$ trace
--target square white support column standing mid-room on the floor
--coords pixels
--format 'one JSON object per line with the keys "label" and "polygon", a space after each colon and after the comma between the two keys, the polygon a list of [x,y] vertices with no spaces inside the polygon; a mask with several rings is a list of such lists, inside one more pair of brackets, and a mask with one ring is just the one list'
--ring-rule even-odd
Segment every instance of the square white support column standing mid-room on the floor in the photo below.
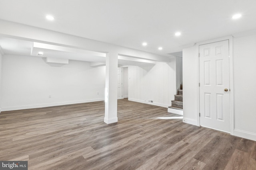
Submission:
{"label": "square white support column standing mid-room on the floor", "polygon": [[106,54],[105,117],[107,124],[117,122],[118,53]]}

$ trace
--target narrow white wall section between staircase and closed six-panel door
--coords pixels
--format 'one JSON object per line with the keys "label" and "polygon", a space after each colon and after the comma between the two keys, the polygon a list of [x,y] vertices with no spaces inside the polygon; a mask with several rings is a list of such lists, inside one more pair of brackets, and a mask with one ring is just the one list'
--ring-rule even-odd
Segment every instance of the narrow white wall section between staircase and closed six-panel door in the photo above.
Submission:
{"label": "narrow white wall section between staircase and closed six-panel door", "polygon": [[183,122],[197,125],[197,60],[196,45],[182,51],[183,66]]}

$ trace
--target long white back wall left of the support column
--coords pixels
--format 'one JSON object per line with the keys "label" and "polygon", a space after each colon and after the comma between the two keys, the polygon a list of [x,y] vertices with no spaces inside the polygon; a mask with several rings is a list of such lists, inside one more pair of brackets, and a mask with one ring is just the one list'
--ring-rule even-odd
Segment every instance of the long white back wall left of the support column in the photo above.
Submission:
{"label": "long white back wall left of the support column", "polygon": [[2,111],[104,100],[105,76],[105,66],[88,62],[53,66],[39,57],[4,55]]}

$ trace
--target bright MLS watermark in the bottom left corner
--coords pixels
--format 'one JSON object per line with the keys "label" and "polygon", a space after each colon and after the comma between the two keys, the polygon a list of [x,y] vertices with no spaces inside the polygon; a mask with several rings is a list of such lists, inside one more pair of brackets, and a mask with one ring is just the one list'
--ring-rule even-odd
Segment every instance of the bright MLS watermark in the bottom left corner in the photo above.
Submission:
{"label": "bright MLS watermark in the bottom left corner", "polygon": [[0,170],[28,170],[28,161],[0,161]]}

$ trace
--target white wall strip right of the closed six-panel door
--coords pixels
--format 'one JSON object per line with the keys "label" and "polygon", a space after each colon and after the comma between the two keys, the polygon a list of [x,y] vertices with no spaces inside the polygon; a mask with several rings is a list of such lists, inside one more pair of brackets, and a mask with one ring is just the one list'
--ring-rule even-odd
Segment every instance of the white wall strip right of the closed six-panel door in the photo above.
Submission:
{"label": "white wall strip right of the closed six-panel door", "polygon": [[234,38],[233,42],[234,133],[256,135],[256,35]]}

